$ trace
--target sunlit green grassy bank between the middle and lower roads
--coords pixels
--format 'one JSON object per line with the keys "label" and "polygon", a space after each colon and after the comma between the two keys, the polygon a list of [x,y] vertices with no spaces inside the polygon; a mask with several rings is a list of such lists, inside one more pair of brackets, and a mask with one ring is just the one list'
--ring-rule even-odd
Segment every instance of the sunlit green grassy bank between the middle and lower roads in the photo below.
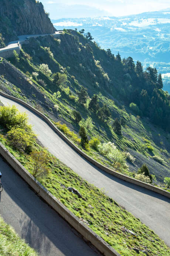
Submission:
{"label": "sunlit green grassy bank between the middle and lower roads", "polygon": [[[11,148],[4,134],[5,131],[1,130],[0,141],[31,173],[33,166],[29,155]],[[35,144],[35,148],[41,150],[38,144]],[[137,255],[133,248],[140,250],[139,255],[145,255],[142,250],[149,256],[169,255],[166,244],[139,219],[106,196],[105,191],[83,180],[55,157],[52,157],[50,168],[51,174],[41,179],[41,184],[121,255]],[[68,187],[76,188],[82,198],[69,192]],[[135,234],[125,232],[123,227]]]}

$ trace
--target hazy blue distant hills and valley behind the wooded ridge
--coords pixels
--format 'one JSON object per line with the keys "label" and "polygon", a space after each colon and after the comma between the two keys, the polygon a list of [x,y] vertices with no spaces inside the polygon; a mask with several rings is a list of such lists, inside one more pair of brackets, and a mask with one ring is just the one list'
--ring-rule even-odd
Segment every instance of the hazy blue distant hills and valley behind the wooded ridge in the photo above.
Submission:
{"label": "hazy blue distant hills and valley behind the wooded ridge", "polygon": [[162,73],[164,89],[170,92],[170,8],[122,17],[69,18],[52,20],[57,29],[84,28],[112,53],[131,56]]}

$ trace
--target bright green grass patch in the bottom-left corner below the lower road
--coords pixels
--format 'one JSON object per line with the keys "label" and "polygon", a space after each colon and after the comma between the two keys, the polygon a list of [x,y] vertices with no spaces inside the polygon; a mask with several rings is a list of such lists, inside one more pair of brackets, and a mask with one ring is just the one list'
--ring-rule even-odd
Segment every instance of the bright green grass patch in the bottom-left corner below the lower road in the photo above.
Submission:
{"label": "bright green grass patch in the bottom-left corner below the lower road", "polygon": [[38,256],[14,229],[0,217],[0,255],[1,256]]}

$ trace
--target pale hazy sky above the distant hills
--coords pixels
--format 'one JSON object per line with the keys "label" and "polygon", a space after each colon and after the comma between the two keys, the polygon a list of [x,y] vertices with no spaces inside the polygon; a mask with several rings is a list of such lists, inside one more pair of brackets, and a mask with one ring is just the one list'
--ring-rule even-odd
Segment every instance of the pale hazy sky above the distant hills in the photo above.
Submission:
{"label": "pale hazy sky above the distant hills", "polygon": [[40,0],[51,19],[126,16],[170,8],[170,0]]}

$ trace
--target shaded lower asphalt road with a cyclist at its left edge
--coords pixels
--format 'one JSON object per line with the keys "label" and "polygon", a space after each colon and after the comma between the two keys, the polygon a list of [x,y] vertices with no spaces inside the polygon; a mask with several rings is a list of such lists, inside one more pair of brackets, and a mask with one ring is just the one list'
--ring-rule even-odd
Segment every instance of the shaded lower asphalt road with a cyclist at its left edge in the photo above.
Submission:
{"label": "shaded lower asphalt road with a cyclist at its left edge", "polygon": [[97,256],[0,157],[0,215],[41,256]]}

